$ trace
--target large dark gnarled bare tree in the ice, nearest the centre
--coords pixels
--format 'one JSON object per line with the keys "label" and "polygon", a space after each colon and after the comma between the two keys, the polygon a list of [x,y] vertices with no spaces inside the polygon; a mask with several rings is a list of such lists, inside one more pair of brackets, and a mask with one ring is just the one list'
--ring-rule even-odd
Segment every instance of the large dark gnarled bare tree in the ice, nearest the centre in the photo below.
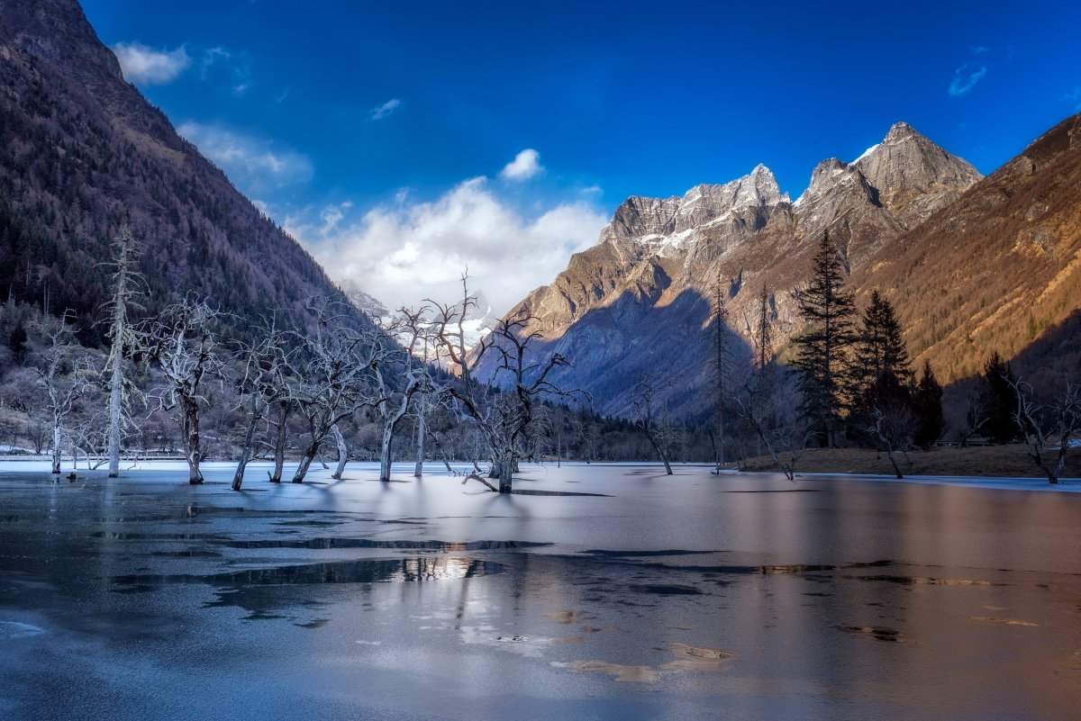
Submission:
{"label": "large dark gnarled bare tree in the ice, nearest the centre", "polygon": [[[476,307],[477,298],[469,294],[468,276],[462,276],[462,302],[436,309],[436,329],[440,352],[454,364],[458,382],[448,392],[480,432],[492,458],[493,477],[499,479],[499,492],[512,490],[515,466],[520,457],[522,435],[534,417],[534,409],[542,398],[587,396],[583,391],[564,391],[549,380],[551,372],[570,362],[558,353],[543,360],[534,360],[532,349],[540,334],[528,332],[534,319],[518,316],[503,319],[495,329],[469,351],[465,344],[465,319]],[[496,357],[493,385],[476,377],[479,364],[485,356]],[[503,389],[503,391],[499,390]],[[486,485],[486,484],[485,484]]]}

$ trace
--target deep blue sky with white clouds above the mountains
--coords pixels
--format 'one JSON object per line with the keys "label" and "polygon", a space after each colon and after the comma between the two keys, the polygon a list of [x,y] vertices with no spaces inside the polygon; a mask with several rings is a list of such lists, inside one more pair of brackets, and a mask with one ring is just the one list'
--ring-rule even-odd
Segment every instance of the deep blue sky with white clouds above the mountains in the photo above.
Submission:
{"label": "deep blue sky with white clouds above the mountains", "polygon": [[796,198],[898,120],[990,173],[1081,111],[1073,3],[825,4],[83,1],[332,276],[399,304],[468,264],[497,311],[627,195],[761,162]]}

